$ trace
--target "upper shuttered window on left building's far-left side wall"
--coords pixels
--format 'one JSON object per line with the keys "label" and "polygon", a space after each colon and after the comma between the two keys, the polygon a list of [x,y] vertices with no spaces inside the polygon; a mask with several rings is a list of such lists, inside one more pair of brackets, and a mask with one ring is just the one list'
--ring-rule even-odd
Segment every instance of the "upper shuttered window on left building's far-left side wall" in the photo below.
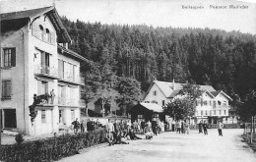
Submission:
{"label": "upper shuttered window on left building's far-left side wall", "polygon": [[3,55],[4,67],[15,67],[16,66],[16,49],[15,48],[4,48]]}

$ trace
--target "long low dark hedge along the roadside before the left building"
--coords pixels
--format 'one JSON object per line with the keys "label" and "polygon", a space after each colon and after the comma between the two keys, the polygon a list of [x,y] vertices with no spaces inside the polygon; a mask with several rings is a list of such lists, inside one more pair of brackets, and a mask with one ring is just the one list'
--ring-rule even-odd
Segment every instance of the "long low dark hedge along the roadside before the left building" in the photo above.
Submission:
{"label": "long low dark hedge along the roadside before the left building", "polygon": [[82,148],[104,142],[104,129],[78,134],[60,135],[45,139],[13,144],[2,148],[2,161],[52,161],[77,154]]}

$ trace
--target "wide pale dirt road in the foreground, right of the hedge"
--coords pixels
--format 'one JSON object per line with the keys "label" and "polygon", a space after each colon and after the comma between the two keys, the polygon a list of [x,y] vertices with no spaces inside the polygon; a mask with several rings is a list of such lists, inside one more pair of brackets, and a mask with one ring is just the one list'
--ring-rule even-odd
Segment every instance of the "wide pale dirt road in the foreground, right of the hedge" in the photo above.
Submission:
{"label": "wide pale dirt road in the foreground, right of the hedge", "polygon": [[209,130],[209,135],[163,133],[152,140],[89,149],[61,162],[255,162],[256,153],[241,142],[242,132],[224,130],[224,136],[217,130]]}

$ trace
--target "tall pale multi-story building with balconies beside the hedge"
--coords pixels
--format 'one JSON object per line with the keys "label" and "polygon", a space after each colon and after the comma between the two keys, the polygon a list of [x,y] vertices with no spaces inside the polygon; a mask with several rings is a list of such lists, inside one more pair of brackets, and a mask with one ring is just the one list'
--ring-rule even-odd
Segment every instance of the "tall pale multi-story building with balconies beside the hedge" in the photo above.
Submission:
{"label": "tall pale multi-story building with balconies beside the hedge", "polygon": [[[80,63],[54,7],[1,14],[1,119],[4,129],[27,135],[58,133],[80,119]],[[33,95],[46,94],[36,105]],[[51,97],[49,97],[51,95]],[[48,99],[48,100],[47,100]]]}

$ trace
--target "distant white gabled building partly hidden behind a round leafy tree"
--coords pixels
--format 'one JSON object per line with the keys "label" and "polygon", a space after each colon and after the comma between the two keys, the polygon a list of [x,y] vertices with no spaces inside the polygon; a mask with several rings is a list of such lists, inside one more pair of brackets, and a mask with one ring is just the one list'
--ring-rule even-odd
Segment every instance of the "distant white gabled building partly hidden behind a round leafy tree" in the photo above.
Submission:
{"label": "distant white gabled building partly hidden behind a round leafy tree", "polygon": [[[164,106],[175,97],[180,97],[179,91],[184,83],[153,81],[148,89],[143,102],[157,103]],[[195,122],[205,120],[209,123],[216,123],[218,119],[224,118],[227,121],[229,105],[232,99],[224,93],[217,91],[212,85],[199,85],[201,96],[197,99]]]}

